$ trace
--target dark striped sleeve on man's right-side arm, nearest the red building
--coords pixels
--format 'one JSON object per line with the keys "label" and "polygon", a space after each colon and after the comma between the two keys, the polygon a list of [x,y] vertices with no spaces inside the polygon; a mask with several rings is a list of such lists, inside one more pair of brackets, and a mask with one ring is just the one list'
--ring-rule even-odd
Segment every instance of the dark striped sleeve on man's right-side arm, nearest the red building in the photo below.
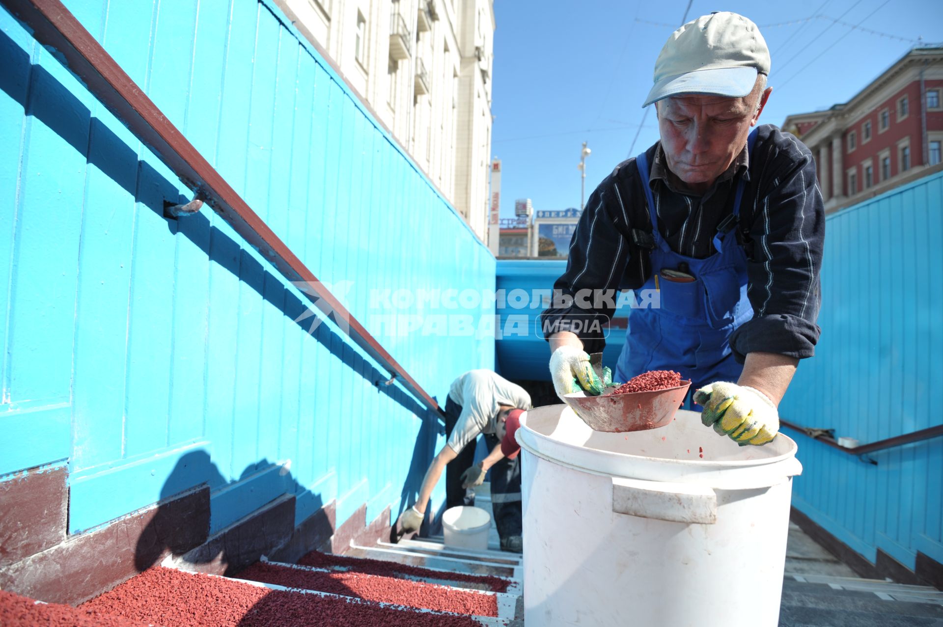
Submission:
{"label": "dark striped sleeve on man's right-side arm, nearest the red building", "polygon": [[730,339],[740,363],[748,353],[811,357],[819,341],[825,211],[811,152],[783,135],[779,148],[767,144],[779,154],[769,155],[772,167],[753,198],[747,264],[753,319]]}

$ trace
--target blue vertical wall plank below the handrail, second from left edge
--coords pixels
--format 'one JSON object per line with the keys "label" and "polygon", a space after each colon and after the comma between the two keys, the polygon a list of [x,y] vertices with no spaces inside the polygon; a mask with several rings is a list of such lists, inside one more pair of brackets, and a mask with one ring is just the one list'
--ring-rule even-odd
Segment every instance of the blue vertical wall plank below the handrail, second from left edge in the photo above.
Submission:
{"label": "blue vertical wall plank below the handrail, second from left edge", "polygon": [[14,403],[70,398],[91,123],[91,102],[70,93],[77,88],[73,76],[44,48],[37,53],[27,96],[30,117],[9,292],[8,402]]}

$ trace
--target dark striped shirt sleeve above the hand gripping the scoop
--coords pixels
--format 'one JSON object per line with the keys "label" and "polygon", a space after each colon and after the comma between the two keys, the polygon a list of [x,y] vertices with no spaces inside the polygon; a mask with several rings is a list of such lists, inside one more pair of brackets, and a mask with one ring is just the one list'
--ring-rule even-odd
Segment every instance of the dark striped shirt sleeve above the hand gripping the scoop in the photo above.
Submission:
{"label": "dark striped shirt sleeve above the hand gripping the scoop", "polygon": [[616,308],[629,258],[627,186],[608,176],[589,196],[570,243],[567,270],[554,282],[551,306],[539,316],[545,339],[571,331],[587,353],[605,346],[604,328]]}

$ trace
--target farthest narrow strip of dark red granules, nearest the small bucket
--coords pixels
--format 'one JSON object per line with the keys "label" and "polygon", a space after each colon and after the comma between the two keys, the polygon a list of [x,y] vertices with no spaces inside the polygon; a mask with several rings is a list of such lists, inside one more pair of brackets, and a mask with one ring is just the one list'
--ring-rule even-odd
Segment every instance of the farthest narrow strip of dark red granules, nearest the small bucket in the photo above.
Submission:
{"label": "farthest narrow strip of dark red granules, nearest the small bucket", "polygon": [[454,569],[421,568],[389,559],[371,559],[351,554],[337,555],[312,551],[298,560],[298,564],[322,569],[354,570],[365,574],[387,575],[429,584],[460,585],[491,592],[521,594],[521,583],[507,577],[456,572]]}

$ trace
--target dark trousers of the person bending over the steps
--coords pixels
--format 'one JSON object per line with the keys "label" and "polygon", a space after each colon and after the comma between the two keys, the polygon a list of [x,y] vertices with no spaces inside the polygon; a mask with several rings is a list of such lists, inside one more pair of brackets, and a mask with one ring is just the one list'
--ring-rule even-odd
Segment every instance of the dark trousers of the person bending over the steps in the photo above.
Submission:
{"label": "dark trousers of the person bending over the steps", "polygon": [[[455,422],[462,413],[460,404],[451,397],[445,402],[445,434],[452,435]],[[494,450],[500,440],[497,436],[486,435],[488,451]],[[445,467],[445,504],[446,507],[473,505],[474,490],[462,487],[462,472],[474,463],[474,442],[469,442],[454,460]],[[491,467],[491,509],[498,536],[521,536],[521,457],[506,457]]]}

